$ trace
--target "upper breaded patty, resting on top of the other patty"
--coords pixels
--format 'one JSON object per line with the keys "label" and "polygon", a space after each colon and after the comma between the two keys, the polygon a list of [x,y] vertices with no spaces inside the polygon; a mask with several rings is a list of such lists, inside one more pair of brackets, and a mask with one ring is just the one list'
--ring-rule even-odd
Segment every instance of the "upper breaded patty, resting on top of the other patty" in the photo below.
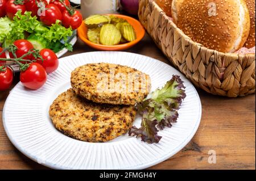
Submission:
{"label": "upper breaded patty, resting on top of the other patty", "polygon": [[134,105],[150,92],[149,75],[117,64],[86,64],[71,73],[76,94],[96,103]]}

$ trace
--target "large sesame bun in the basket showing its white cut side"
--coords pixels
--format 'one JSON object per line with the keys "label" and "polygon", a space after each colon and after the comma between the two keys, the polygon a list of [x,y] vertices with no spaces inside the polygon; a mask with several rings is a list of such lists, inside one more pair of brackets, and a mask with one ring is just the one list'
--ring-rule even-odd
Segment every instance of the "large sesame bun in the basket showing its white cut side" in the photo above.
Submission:
{"label": "large sesame bun in the basket showing its white cut side", "polygon": [[250,16],[243,0],[184,0],[176,24],[193,41],[233,53],[245,44]]}

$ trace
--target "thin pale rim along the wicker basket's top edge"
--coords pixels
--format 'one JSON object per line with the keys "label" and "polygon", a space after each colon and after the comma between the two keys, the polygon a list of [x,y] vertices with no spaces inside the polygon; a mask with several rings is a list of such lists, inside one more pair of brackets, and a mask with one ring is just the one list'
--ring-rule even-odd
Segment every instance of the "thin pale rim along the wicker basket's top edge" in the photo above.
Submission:
{"label": "thin pale rim along the wicker basket's top edge", "polygon": [[[167,16],[167,15],[166,15],[166,12],[164,12],[164,11],[158,6],[158,4],[155,2],[155,0],[149,0],[149,2],[152,2],[153,5],[157,7],[157,9],[160,11],[160,13],[163,14],[163,17],[164,17],[165,19],[167,19],[167,20],[171,23],[171,26],[172,26],[172,27],[174,27],[174,28],[176,28],[177,30],[179,30],[178,32],[179,32],[179,34],[180,34],[181,36],[185,37],[185,39],[188,39],[188,43],[189,43],[189,44],[193,44],[193,45],[195,45],[195,46],[198,46],[198,47],[200,47],[200,49],[202,49],[202,50],[204,50],[204,51],[208,51],[208,52],[210,52],[210,53],[212,53],[212,54],[216,54],[216,53],[217,53],[217,54],[219,54],[219,55],[222,56],[222,57],[224,57],[224,56],[238,56],[238,57],[241,57],[241,58],[243,58],[243,57],[251,57],[251,58],[254,58],[254,57],[255,57],[255,53],[247,53],[247,54],[224,53],[224,52],[219,52],[218,50],[209,49],[209,48],[207,48],[207,47],[204,47],[204,45],[193,41],[193,40],[191,39],[191,37],[185,35],[185,33],[184,33],[182,30],[180,30],[180,28],[177,27],[176,24],[170,19],[170,16]],[[254,60],[254,61],[255,61],[255,60]]]}

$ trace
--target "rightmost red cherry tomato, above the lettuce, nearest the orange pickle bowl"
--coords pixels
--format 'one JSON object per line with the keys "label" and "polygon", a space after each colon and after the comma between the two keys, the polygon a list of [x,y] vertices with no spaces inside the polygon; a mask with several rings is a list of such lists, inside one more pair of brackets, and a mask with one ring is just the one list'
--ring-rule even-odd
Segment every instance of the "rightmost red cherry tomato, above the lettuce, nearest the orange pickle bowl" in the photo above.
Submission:
{"label": "rightmost red cherry tomato, above the lettuce, nearest the orange pickle bowl", "polygon": [[62,15],[62,24],[65,28],[69,28],[71,26],[71,28],[75,30],[82,24],[82,15],[77,10],[74,11],[73,15],[69,14],[68,10],[65,10]]}

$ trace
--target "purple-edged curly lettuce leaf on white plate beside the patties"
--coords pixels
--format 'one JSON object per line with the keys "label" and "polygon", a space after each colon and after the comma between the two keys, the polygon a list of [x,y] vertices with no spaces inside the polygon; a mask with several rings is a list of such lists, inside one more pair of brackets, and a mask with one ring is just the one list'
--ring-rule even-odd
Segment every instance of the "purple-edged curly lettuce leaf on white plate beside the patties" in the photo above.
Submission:
{"label": "purple-edged curly lettuce leaf on white plate beside the patties", "polygon": [[159,129],[172,127],[179,116],[177,110],[185,98],[185,87],[178,75],[148,95],[148,98],[137,104],[138,113],[142,115],[141,128],[131,127],[129,136],[141,137],[142,141],[158,143],[161,136],[158,136]]}

